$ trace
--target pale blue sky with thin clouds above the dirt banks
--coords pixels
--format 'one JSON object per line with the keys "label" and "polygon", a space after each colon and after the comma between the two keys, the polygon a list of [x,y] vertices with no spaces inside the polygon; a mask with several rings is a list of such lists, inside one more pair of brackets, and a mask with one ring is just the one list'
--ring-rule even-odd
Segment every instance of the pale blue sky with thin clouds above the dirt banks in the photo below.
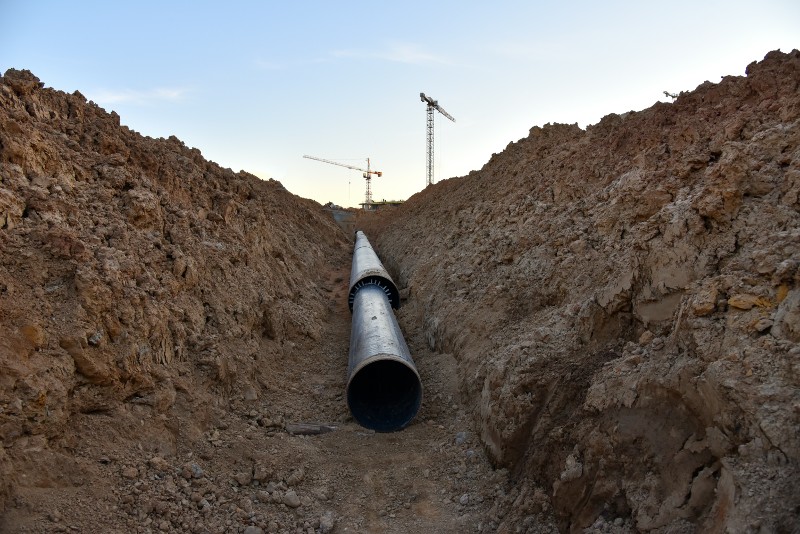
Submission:
{"label": "pale blue sky with thin clouds above the dirt banks", "polygon": [[481,168],[548,122],[597,123],[800,48],[800,2],[0,0],[0,71],[81,91],[151,137],[356,206]]}

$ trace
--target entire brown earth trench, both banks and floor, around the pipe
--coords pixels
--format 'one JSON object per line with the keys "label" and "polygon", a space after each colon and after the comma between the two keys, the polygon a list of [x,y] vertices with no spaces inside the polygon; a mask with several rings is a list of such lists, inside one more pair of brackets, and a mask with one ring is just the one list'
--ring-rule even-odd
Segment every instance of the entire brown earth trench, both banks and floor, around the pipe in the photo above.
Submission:
{"label": "entire brown earth trench, both banks and floor, around the pipe", "polygon": [[0,83],[0,530],[791,532],[800,53],[359,214],[424,388],[345,400],[318,204]]}

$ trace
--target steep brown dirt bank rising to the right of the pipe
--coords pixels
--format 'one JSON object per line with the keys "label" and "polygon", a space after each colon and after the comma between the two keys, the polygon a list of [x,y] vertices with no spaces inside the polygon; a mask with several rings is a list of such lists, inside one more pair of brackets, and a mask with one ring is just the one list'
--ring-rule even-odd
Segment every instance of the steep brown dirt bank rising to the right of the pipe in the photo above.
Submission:
{"label": "steep brown dirt bank rising to the right of the pipe", "polygon": [[[500,530],[800,524],[800,53],[362,217],[513,474]],[[543,498],[543,495],[546,498]]]}

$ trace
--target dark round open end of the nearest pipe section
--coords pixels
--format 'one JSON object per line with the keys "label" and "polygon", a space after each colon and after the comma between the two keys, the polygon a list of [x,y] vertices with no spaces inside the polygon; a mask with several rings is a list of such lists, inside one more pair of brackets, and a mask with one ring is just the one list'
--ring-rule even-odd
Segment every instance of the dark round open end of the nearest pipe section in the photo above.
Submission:
{"label": "dark round open end of the nearest pipe section", "polygon": [[394,432],[417,415],[422,404],[422,383],[402,361],[379,359],[350,379],[347,404],[361,426],[376,432]]}

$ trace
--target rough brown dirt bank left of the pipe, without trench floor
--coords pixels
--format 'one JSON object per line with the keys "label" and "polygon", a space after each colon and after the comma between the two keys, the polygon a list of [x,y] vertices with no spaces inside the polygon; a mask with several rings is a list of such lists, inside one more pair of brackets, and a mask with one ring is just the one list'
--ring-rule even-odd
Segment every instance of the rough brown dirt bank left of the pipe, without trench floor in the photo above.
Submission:
{"label": "rough brown dirt bank left of the pipe, without trench floor", "polygon": [[[0,78],[2,504],[102,486],[125,474],[137,438],[145,467],[172,460],[181,440],[225,426],[231,400],[288,388],[285,363],[329,314],[320,273],[349,259],[316,203],[42,85],[27,71]],[[342,411],[314,402],[322,418]],[[284,403],[253,421],[302,411]],[[74,458],[92,446],[91,464]]]}

